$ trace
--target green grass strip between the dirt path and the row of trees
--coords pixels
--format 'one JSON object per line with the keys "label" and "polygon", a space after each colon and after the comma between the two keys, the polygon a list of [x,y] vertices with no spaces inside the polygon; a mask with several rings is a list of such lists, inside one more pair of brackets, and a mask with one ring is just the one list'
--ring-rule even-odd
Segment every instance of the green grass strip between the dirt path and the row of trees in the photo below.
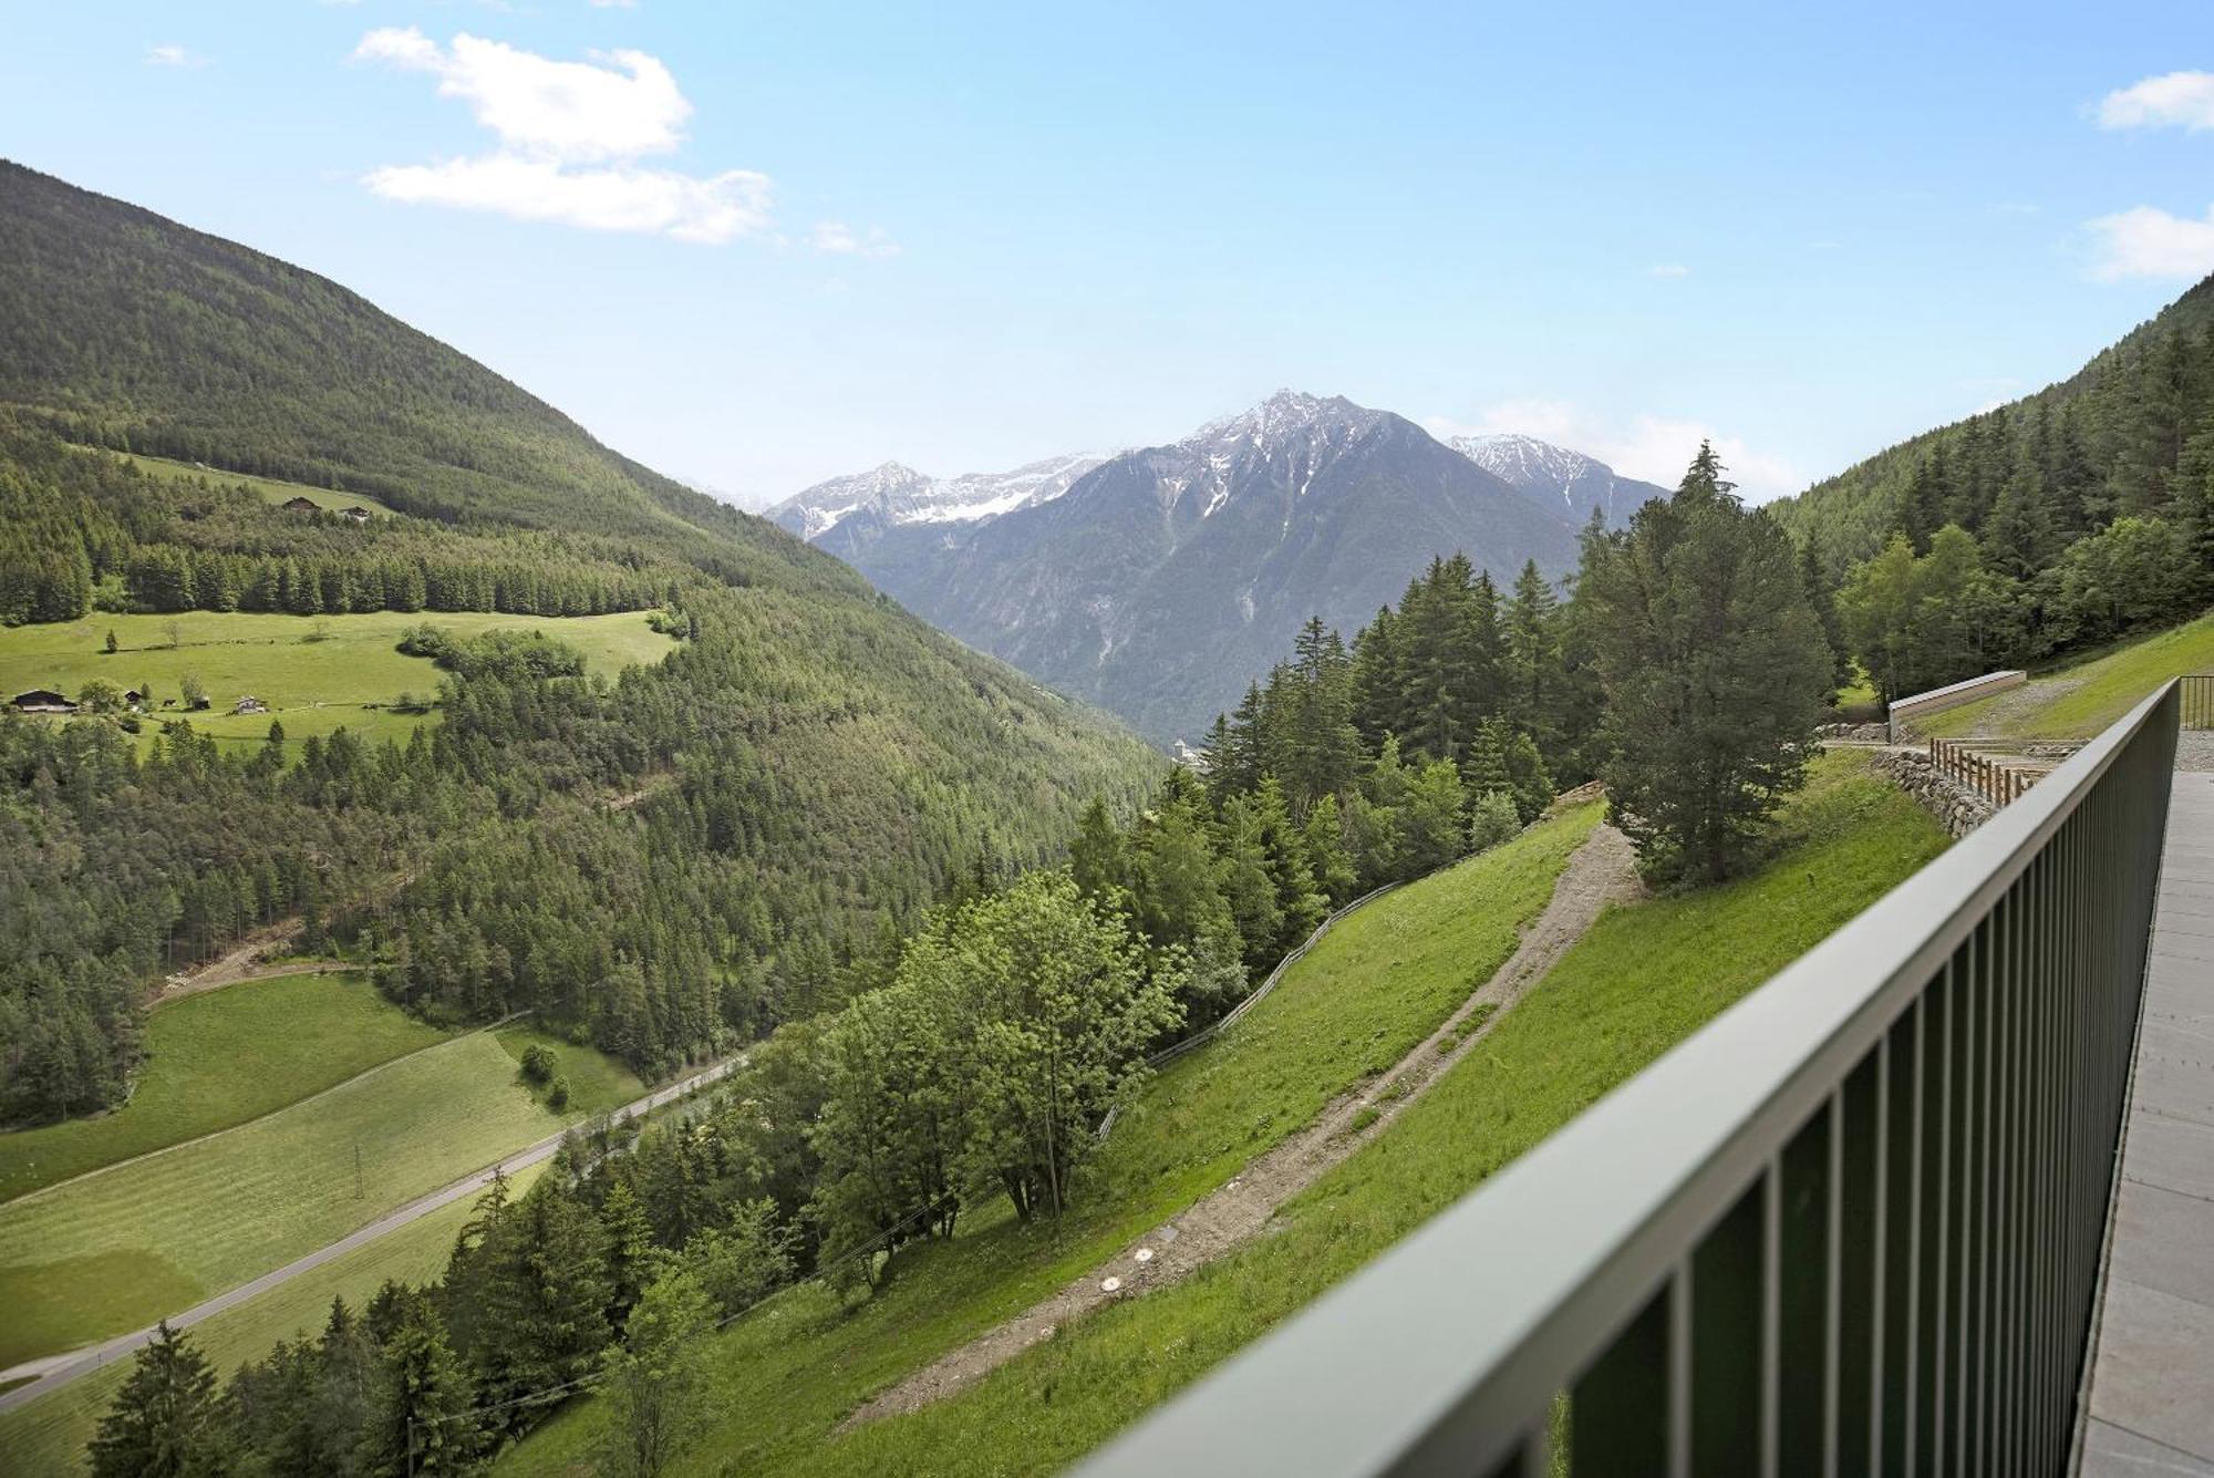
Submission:
{"label": "green grass strip between the dirt path and the row of trees", "polygon": [[[735,1471],[799,1460],[857,1401],[1111,1257],[1397,1062],[1508,960],[1599,812],[1552,816],[1342,920],[1244,1022],[1118,1115],[1061,1224],[1016,1224],[996,1201],[952,1243],[903,1250],[890,1283],[850,1312],[810,1286],[737,1325],[717,1363],[753,1365],[731,1387],[753,1405],[722,1416],[706,1447]],[[587,1407],[511,1465],[567,1471],[589,1440]]]}

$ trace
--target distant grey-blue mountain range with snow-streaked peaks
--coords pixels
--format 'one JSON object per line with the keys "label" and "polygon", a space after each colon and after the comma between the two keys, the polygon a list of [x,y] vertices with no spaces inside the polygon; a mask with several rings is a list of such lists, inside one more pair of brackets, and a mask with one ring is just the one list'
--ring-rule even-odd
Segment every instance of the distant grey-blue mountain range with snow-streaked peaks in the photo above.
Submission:
{"label": "distant grey-blue mountain range with snow-streaked peaks", "polygon": [[923,620],[1156,741],[1196,737],[1313,615],[1353,628],[1432,558],[1499,582],[1576,560],[1652,482],[1528,436],[1439,443],[1344,396],[1277,392],[1182,440],[1007,473],[899,462],[770,518]]}

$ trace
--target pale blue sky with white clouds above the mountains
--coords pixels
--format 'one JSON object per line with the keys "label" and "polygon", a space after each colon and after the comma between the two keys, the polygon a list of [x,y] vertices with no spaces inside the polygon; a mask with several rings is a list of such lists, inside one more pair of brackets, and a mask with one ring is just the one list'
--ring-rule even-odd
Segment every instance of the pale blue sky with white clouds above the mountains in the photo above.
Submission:
{"label": "pale blue sky with white clouds above the mountains", "polygon": [[1277,387],[1753,498],[2214,270],[2214,11],[9,0],[0,155],[748,507]]}

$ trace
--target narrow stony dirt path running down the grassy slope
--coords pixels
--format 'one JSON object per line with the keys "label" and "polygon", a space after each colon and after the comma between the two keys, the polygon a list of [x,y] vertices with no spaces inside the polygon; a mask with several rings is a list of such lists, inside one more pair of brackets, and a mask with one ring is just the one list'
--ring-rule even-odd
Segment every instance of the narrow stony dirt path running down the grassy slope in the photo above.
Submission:
{"label": "narrow stony dirt path running down the grassy slope", "polygon": [[1260,1235],[1284,1201],[1384,1133],[1386,1124],[1466,1058],[1568,954],[1568,947],[1583,938],[1607,903],[1634,898],[1638,892],[1634,861],[1630,839],[1612,825],[1601,825],[1568,858],[1554,883],[1552,903],[1523,931],[1514,956],[1390,1071],[1333,1100],[1313,1124],[1258,1155],[1229,1184],[1200,1197],[1061,1292],[879,1392],[857,1407],[841,1429],[914,1412],[950,1396],[1041,1339],[1052,1339],[1069,1319],[1173,1283]]}

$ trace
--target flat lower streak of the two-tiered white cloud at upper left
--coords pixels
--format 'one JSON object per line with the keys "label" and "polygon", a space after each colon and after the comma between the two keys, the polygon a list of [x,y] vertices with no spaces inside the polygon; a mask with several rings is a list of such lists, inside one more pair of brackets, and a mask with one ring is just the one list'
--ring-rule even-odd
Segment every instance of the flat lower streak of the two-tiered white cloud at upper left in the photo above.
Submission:
{"label": "flat lower streak of the two-tiered white cloud at upper left", "polygon": [[722,243],[768,226],[768,175],[728,170],[706,179],[675,170],[567,168],[556,159],[496,153],[445,164],[387,164],[365,184],[410,206],[496,210],[518,221],[629,230]]}

